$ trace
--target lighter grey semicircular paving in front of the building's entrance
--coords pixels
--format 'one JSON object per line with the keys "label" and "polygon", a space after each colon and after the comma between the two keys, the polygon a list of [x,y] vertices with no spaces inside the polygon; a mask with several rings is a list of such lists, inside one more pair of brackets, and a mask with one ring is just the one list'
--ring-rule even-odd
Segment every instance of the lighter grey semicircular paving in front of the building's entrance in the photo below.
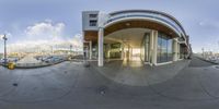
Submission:
{"label": "lighter grey semicircular paving in front of the building's entrance", "polygon": [[[93,63],[93,68],[105,77],[124,85],[148,86],[174,77],[189,61],[178,61],[168,65],[150,66],[140,61],[111,61],[104,68]],[[149,84],[150,83],[150,84]]]}

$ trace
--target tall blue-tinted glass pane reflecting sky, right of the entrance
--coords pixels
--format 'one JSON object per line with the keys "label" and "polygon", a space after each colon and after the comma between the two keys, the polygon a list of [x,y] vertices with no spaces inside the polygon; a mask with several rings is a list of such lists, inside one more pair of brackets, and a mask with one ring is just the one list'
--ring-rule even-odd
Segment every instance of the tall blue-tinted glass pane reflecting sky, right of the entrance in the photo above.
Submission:
{"label": "tall blue-tinted glass pane reflecting sky, right of the entrance", "polygon": [[159,33],[158,35],[158,49],[157,49],[157,62],[169,62],[173,60],[173,52],[172,52],[172,43],[173,40],[162,34]]}

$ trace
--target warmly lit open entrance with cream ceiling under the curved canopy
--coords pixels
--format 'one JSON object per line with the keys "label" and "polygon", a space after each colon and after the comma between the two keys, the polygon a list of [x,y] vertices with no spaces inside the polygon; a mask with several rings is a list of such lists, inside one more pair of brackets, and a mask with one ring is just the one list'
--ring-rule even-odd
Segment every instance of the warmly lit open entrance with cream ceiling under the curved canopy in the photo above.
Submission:
{"label": "warmly lit open entrance with cream ceiling under the curved canopy", "polygon": [[[150,62],[150,34],[147,28],[126,28],[104,37],[104,45],[111,45],[111,59],[116,55],[129,63],[142,65]],[[113,45],[115,47],[113,47]],[[117,53],[115,53],[117,52]],[[115,53],[115,55],[114,55]]]}

